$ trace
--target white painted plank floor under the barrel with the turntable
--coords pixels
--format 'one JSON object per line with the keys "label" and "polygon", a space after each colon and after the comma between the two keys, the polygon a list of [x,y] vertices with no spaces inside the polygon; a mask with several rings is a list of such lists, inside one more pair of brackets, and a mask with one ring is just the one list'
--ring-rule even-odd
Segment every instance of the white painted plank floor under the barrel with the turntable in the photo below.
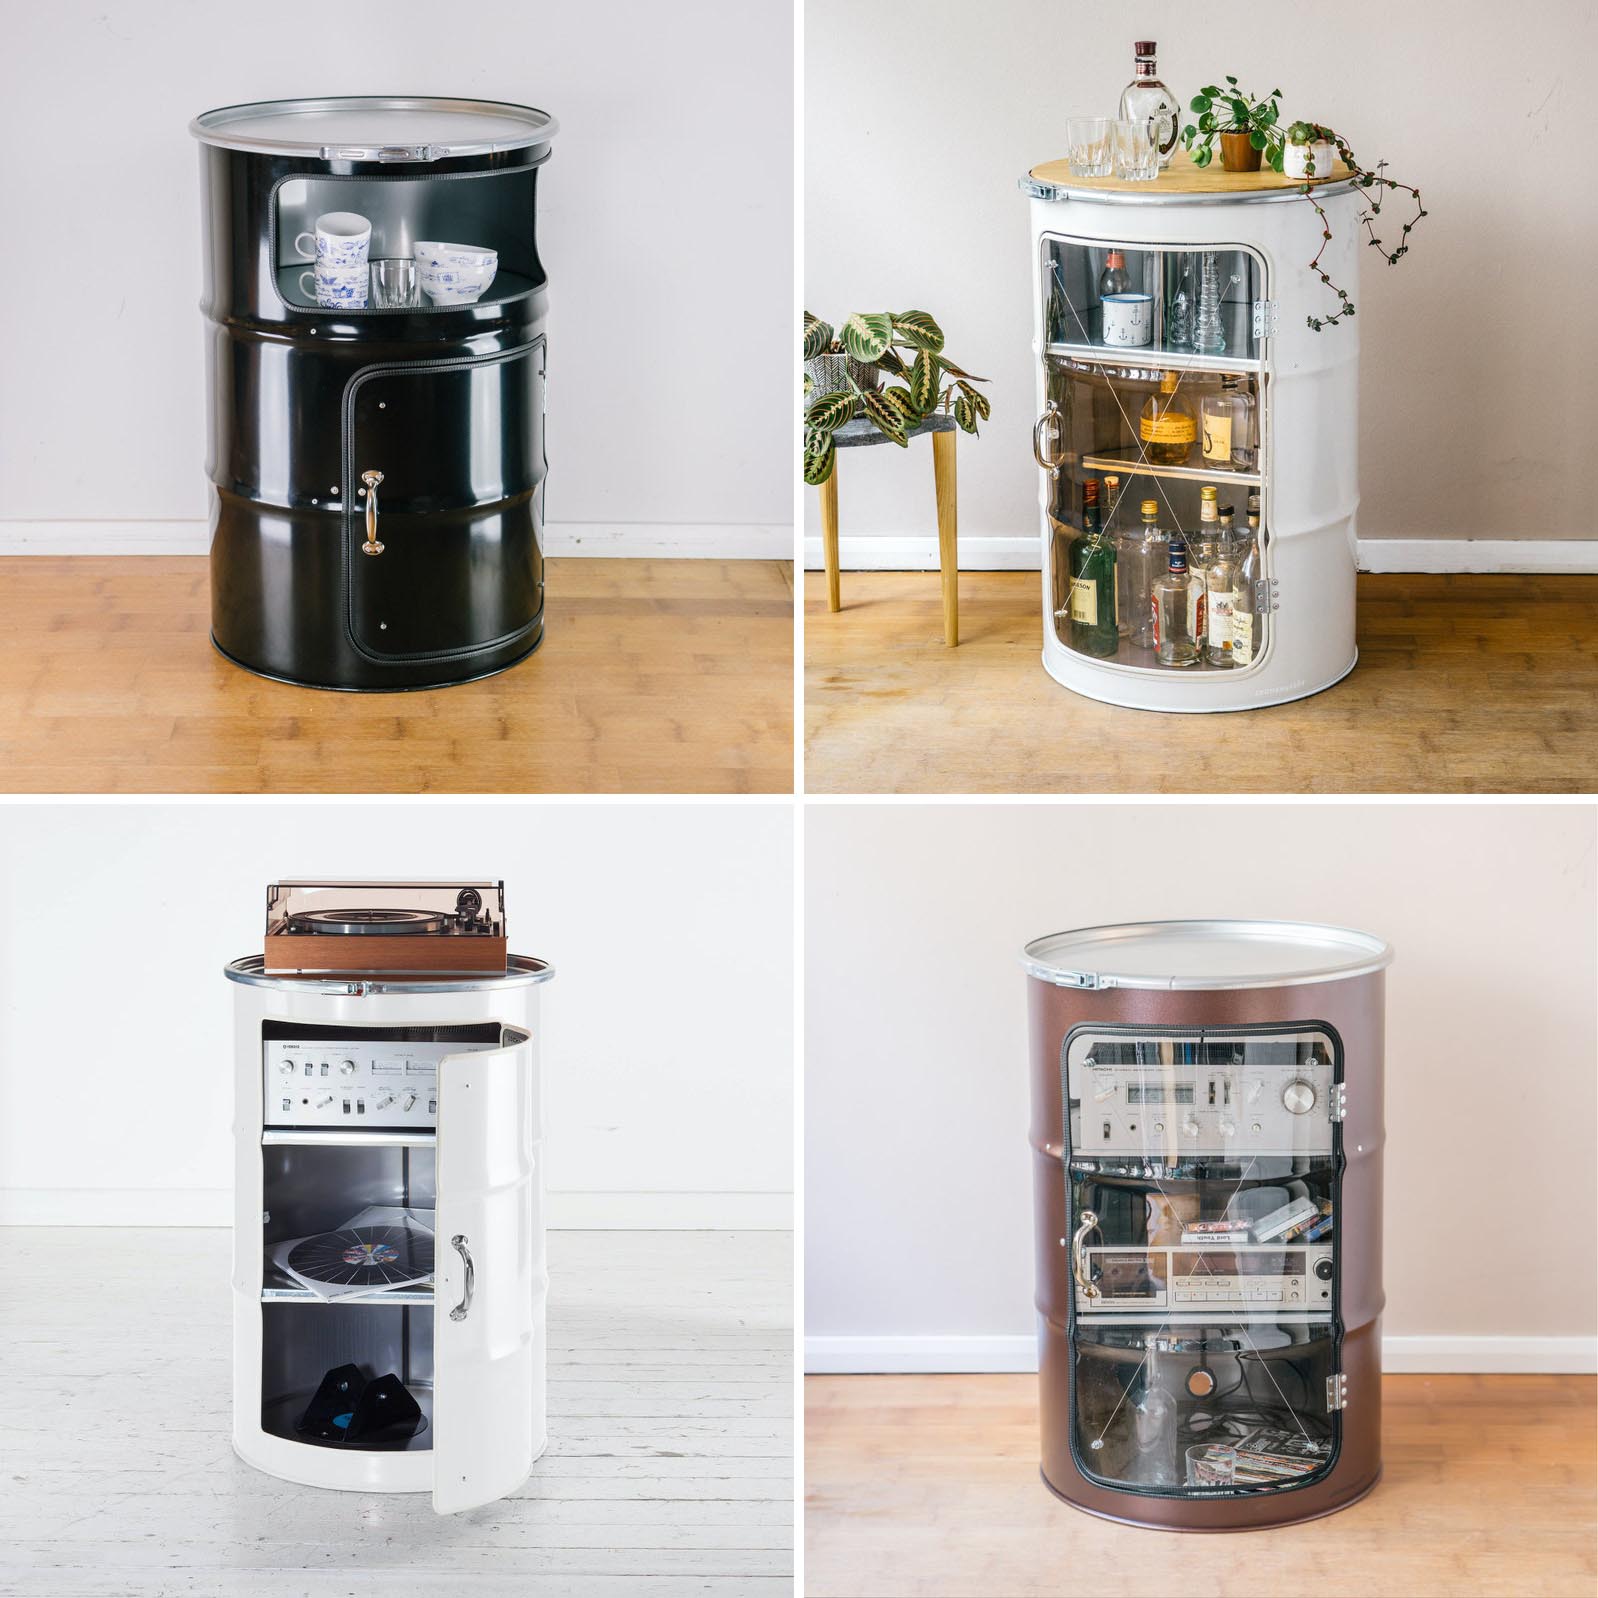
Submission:
{"label": "white painted plank floor under the barrel with the turntable", "polygon": [[550,1449],[463,1515],[233,1454],[229,1246],[0,1227],[0,1593],[791,1593],[786,1232],[551,1232]]}

